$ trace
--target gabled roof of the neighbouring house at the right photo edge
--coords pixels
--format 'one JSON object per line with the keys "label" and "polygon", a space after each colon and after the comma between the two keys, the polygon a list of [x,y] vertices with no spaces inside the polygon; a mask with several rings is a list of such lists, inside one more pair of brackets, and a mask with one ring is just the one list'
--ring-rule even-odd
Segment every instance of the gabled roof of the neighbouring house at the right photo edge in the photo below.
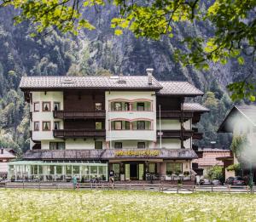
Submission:
{"label": "gabled roof of the neighbouring house at the right photo edge", "polygon": [[234,105],[218,128],[218,133],[232,133],[233,121],[243,117],[249,124],[256,126],[256,105]]}

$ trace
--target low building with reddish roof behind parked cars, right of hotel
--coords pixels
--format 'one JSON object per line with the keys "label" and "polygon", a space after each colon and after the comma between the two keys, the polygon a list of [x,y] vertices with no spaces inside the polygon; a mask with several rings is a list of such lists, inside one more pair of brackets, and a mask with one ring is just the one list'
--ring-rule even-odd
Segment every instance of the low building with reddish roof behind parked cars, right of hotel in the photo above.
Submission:
{"label": "low building with reddish roof behind parked cars, right of hotel", "polygon": [[[232,155],[230,150],[212,148],[199,149],[195,152],[198,159],[195,159],[193,162],[196,166],[198,166],[197,168],[202,169],[201,171],[203,175],[207,175],[208,169],[212,168],[213,166],[224,166],[224,162],[218,158],[230,157]],[[198,172],[198,170],[196,171]]]}

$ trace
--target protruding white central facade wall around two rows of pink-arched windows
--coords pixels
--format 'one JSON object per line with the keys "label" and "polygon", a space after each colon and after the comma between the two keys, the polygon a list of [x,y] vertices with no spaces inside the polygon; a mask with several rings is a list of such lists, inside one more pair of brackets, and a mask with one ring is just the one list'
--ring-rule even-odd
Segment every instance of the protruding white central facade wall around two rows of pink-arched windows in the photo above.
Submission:
{"label": "protruding white central facade wall around two rows of pink-arched windows", "polygon": [[[152,100],[153,111],[109,111],[111,100]],[[124,140],[124,139],[145,139],[145,140],[156,140],[156,102],[155,94],[152,91],[148,92],[109,92],[105,93],[105,104],[106,104],[106,140]],[[126,119],[139,119],[148,118],[153,120],[154,130],[108,130],[109,119],[115,118],[126,118]]]}

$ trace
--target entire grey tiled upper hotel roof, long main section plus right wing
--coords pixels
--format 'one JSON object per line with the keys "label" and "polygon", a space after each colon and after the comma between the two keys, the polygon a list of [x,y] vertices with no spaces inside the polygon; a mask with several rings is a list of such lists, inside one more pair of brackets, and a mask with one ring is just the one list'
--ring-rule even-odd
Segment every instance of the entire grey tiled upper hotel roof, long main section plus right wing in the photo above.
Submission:
{"label": "entire grey tiled upper hotel roof, long main section plus right wing", "polygon": [[113,77],[22,77],[20,89],[44,90],[63,88],[105,88],[105,89],[142,89],[158,91],[159,95],[197,96],[203,95],[201,90],[188,82],[161,81],[152,77],[148,84],[148,76],[113,76]]}

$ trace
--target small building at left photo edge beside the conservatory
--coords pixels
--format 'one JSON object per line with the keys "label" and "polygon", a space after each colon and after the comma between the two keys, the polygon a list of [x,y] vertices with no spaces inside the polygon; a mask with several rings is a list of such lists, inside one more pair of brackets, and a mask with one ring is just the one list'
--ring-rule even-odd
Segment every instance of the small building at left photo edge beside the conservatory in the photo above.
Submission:
{"label": "small building at left photo edge beside the conservatory", "polygon": [[13,149],[3,147],[0,149],[0,178],[6,179],[8,174],[8,163],[15,159],[15,151]]}

